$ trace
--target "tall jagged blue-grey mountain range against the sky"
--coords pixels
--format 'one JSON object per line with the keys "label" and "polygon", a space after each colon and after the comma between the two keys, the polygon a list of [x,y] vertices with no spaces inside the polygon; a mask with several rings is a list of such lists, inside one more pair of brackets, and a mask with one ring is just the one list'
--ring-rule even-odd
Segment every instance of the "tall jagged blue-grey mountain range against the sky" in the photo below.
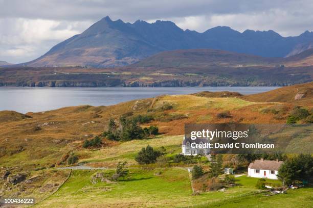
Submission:
{"label": "tall jagged blue-grey mountain range against the sky", "polygon": [[[313,32],[282,37],[274,31],[243,33],[216,27],[204,33],[182,30],[170,21],[125,23],[105,17],[79,35],[65,40],[26,66],[112,67],[135,63],[160,51],[213,48],[263,57],[296,54],[299,45],[313,42]],[[294,52],[292,52],[294,51]],[[299,50],[300,52],[302,50]]]}

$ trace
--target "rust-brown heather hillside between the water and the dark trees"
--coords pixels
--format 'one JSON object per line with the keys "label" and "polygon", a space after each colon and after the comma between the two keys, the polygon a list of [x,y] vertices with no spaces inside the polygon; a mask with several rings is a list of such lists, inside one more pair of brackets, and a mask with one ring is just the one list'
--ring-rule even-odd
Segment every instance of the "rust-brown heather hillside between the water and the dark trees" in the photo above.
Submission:
{"label": "rust-brown heather hillside between the water and the dark trees", "polygon": [[[184,123],[285,123],[294,106],[303,105],[308,110],[311,108],[311,103],[307,101],[286,102],[292,100],[298,92],[303,92],[301,90],[310,90],[311,84],[283,87],[263,95],[203,92],[197,93],[197,96],[165,95],[114,106],[67,107],[26,115],[0,112],[0,120],[5,121],[0,125],[0,164],[22,169],[62,164],[69,152],[81,149],[85,139],[94,138],[105,131],[109,118],[118,122],[122,115],[153,117],[152,121],[141,125],[157,125],[162,137],[182,135]],[[308,90],[307,97],[300,101],[310,98],[311,91]],[[227,118],[218,116],[225,112],[229,115]],[[104,147],[119,145],[119,142],[103,142]],[[88,155],[82,153],[80,160],[92,160]]]}

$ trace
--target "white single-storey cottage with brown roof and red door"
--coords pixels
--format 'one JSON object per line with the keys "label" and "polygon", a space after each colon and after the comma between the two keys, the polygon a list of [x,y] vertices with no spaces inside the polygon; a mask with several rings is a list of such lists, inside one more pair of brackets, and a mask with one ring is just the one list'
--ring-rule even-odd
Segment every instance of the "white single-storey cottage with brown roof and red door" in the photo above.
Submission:
{"label": "white single-storey cottage with brown roof and red door", "polygon": [[280,168],[282,161],[269,161],[269,160],[255,160],[250,163],[248,167],[248,176],[258,178],[270,178],[278,179],[278,169]]}

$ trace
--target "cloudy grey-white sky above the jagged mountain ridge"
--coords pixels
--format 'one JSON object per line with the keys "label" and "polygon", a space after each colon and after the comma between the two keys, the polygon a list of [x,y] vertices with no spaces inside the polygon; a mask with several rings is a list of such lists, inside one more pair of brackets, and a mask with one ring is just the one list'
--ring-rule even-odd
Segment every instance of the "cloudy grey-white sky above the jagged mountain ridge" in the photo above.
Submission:
{"label": "cloudy grey-white sky above the jagged mountain ridge", "polygon": [[36,59],[105,16],[170,20],[186,30],[216,26],[298,36],[313,30],[311,0],[0,0],[0,61]]}

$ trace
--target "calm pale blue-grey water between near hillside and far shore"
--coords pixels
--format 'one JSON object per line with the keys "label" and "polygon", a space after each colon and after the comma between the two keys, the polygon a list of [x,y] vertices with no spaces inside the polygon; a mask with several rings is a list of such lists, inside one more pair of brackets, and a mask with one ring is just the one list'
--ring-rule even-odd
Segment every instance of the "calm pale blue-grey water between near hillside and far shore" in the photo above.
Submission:
{"label": "calm pale blue-grey water between near hillside and far shore", "polygon": [[277,87],[176,87],[176,88],[20,88],[0,87],[0,111],[20,113],[48,111],[66,106],[109,106],[161,94],[190,94],[200,91],[233,91],[254,94]]}

